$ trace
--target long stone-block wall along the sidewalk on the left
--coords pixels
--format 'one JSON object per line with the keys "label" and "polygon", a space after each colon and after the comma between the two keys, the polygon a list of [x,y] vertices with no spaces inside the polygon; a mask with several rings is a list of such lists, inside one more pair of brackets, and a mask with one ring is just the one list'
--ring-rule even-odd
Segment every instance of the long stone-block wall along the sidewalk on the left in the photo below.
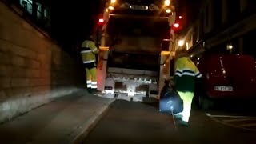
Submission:
{"label": "long stone-block wall along the sidewalk on the left", "polygon": [[77,63],[0,2],[0,122],[78,90]]}

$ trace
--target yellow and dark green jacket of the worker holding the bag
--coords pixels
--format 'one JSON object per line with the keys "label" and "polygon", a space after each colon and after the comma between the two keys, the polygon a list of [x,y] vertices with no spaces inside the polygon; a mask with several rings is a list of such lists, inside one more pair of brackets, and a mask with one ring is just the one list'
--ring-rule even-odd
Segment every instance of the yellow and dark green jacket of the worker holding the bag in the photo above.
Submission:
{"label": "yellow and dark green jacket of the worker holding the bag", "polygon": [[175,88],[182,92],[194,92],[195,78],[201,78],[202,74],[190,58],[178,58],[174,64]]}

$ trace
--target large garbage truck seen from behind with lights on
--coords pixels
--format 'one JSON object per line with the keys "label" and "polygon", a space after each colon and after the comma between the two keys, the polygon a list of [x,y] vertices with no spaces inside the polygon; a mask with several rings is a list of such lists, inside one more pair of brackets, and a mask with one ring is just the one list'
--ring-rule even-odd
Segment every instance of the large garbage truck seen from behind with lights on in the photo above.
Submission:
{"label": "large garbage truck seen from behind with lights on", "polygon": [[98,90],[103,97],[158,99],[170,74],[175,21],[170,0],[110,0],[98,19]]}

